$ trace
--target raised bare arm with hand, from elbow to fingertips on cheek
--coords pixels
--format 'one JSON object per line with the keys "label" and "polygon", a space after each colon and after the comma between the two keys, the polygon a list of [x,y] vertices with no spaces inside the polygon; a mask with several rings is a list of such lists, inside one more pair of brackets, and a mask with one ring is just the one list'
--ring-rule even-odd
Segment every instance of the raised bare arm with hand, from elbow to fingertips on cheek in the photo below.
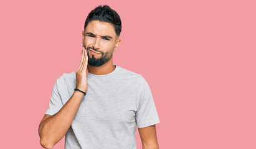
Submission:
{"label": "raised bare arm with hand, from elbow to fingertips on cheek", "polygon": [[[88,55],[83,47],[82,58],[78,69],[75,71],[77,86],[76,88],[86,92],[88,89],[87,75],[88,75]],[[57,82],[56,82],[57,83]],[[55,91],[56,92],[56,91]],[[54,93],[54,90],[53,90]],[[57,93],[55,93],[57,94]],[[78,107],[84,97],[83,93],[74,91],[69,101],[54,115],[44,115],[44,118],[39,125],[40,144],[44,148],[52,148],[60,141],[62,137],[69,130],[70,125],[77,114]],[[60,100],[60,97],[58,97]]]}

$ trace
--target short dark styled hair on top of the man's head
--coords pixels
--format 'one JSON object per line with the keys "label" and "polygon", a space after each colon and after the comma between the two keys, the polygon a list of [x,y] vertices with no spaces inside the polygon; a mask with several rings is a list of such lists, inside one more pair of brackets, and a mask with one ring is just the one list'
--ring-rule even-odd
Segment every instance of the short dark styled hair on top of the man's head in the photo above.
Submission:
{"label": "short dark styled hair on top of the man's head", "polygon": [[[116,35],[119,36],[121,33],[121,19],[116,11],[107,5],[100,5],[95,7],[87,16],[85,20],[85,27],[91,20],[100,20],[102,22],[109,22],[115,27]],[[84,27],[84,29],[85,29]]]}

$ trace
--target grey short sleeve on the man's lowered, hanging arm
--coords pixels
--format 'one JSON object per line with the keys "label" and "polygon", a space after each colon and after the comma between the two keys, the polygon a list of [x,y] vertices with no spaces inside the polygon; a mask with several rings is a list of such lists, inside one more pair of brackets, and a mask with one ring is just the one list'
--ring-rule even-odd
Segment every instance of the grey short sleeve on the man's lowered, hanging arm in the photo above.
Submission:
{"label": "grey short sleeve on the man's lowered, hanging arm", "polygon": [[160,122],[156,106],[154,105],[151,89],[145,78],[141,76],[138,81],[136,94],[137,111],[135,114],[136,124],[138,128],[148,127]]}

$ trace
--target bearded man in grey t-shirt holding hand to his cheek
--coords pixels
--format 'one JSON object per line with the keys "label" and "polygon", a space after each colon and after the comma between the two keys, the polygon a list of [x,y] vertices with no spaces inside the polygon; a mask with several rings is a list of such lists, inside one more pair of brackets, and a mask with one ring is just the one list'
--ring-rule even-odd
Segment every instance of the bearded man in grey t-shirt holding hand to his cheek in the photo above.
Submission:
{"label": "bearded man in grey t-shirt holding hand to his cheek", "polygon": [[160,121],[148,83],[113,65],[120,32],[121,19],[109,6],[88,14],[80,65],[57,79],[40,122],[42,147],[54,147],[65,135],[65,148],[135,149],[137,125],[143,149],[159,148]]}

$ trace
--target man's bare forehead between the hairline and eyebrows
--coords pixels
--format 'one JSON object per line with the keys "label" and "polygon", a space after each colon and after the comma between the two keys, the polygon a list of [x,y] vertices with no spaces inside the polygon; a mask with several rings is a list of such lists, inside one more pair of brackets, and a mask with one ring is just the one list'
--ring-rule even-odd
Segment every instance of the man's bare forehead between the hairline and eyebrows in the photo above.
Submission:
{"label": "man's bare forehead between the hairline and eyebrows", "polygon": [[116,37],[114,26],[111,23],[102,22],[100,20],[91,20],[85,28],[85,32],[92,32],[100,36],[109,35],[114,38]]}

